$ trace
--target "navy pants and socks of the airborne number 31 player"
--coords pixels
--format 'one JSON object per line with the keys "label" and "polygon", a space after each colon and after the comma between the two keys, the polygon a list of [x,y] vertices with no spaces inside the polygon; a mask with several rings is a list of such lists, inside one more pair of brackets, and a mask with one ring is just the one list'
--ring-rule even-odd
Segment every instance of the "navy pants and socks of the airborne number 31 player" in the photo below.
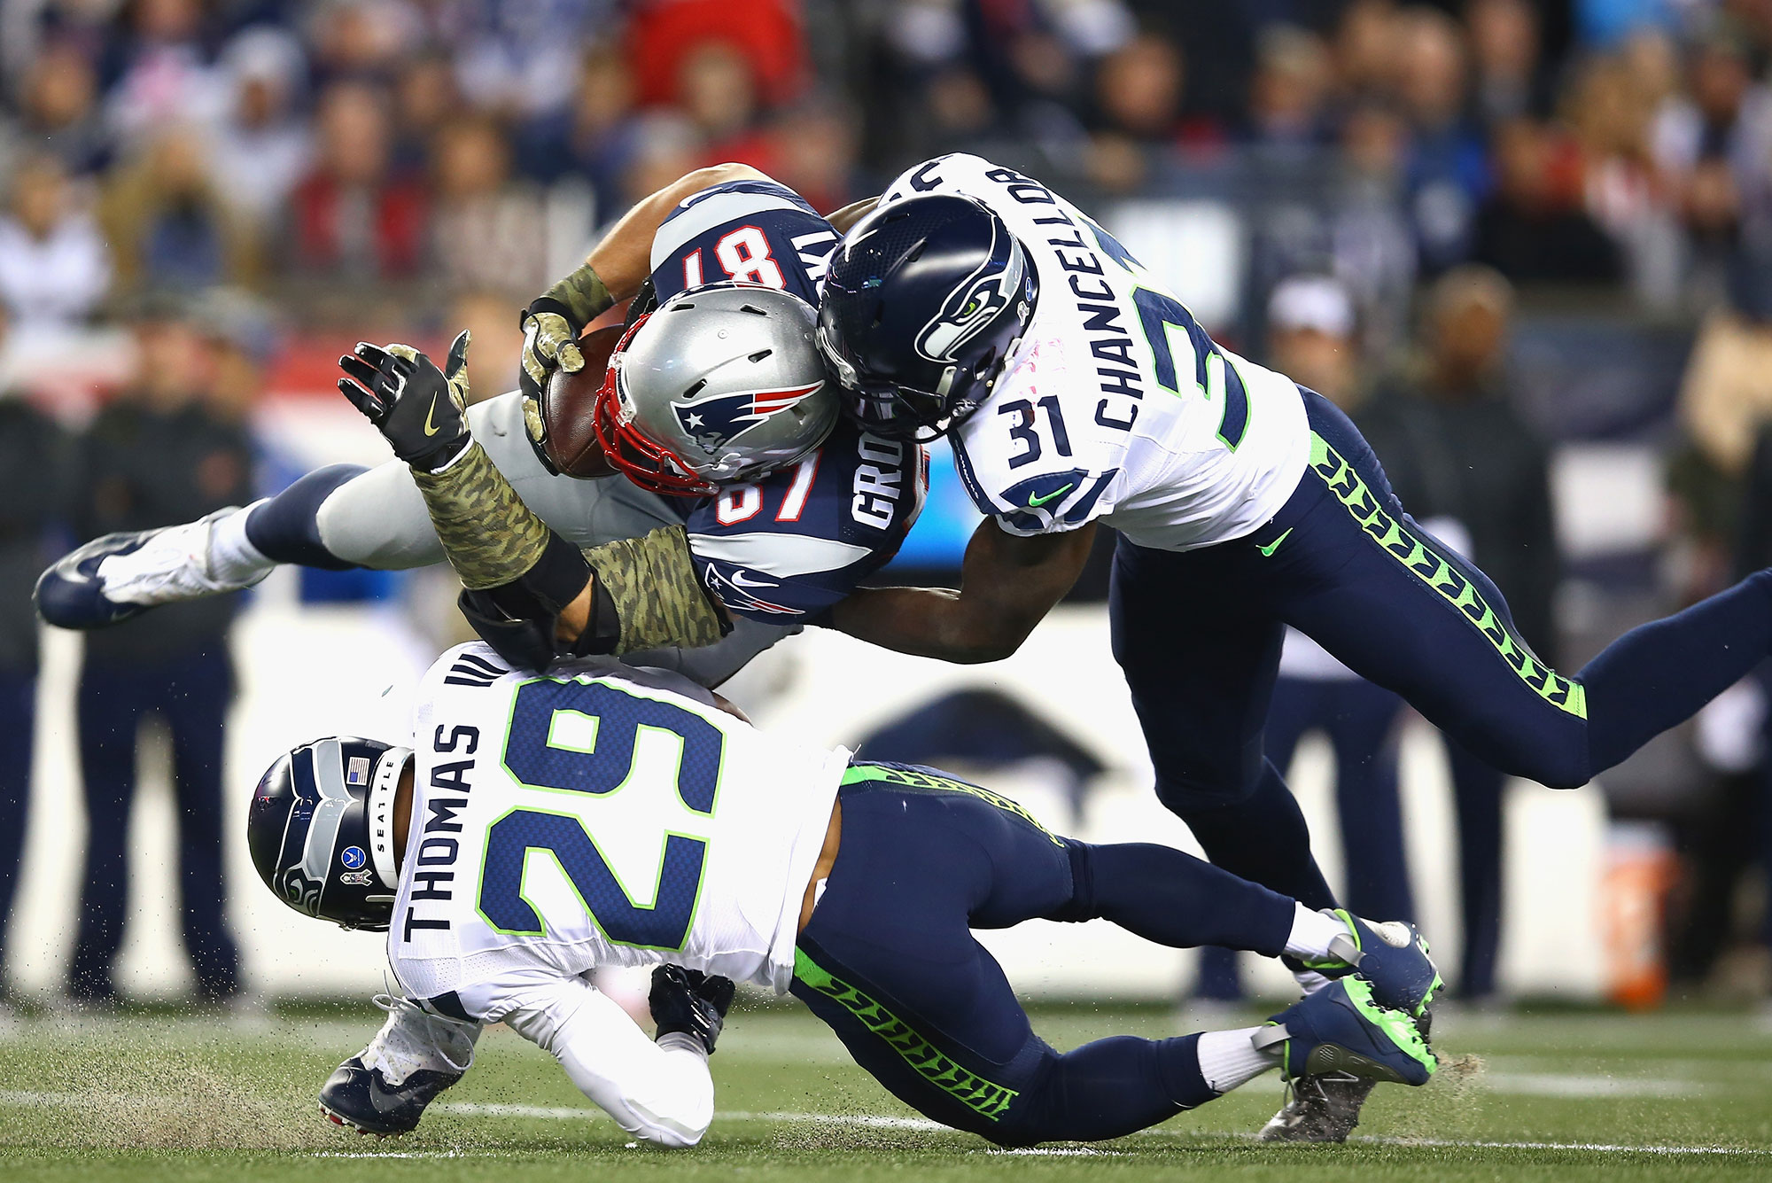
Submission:
{"label": "navy pants and socks of the airborne number 31 player", "polygon": [[1198,551],[1122,540],[1115,554],[1115,657],[1157,795],[1219,866],[1331,901],[1262,753],[1283,623],[1474,758],[1552,788],[1584,785],[1772,652],[1772,572],[1758,572],[1627,632],[1574,678],[1547,669],[1488,577],[1403,512],[1348,418],[1311,391],[1304,404],[1310,464],[1272,521]]}

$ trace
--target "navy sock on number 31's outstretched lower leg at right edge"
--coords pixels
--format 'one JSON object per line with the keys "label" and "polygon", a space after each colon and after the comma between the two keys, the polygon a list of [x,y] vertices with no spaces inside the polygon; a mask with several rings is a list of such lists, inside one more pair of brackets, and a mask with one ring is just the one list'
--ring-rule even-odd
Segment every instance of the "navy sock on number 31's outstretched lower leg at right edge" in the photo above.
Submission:
{"label": "navy sock on number 31's outstretched lower leg at right edge", "polygon": [[1692,717],[1768,652],[1772,570],[1607,645],[1575,675],[1588,692],[1589,774]]}

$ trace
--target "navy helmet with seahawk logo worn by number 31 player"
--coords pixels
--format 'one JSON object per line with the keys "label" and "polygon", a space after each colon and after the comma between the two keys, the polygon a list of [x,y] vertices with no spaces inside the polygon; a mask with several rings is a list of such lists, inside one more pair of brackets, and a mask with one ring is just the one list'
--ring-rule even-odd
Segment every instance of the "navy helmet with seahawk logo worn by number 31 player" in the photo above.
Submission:
{"label": "navy helmet with seahawk logo worn by number 31 player", "polygon": [[1038,299],[1008,225],[952,193],[881,205],[831,255],[819,347],[865,430],[927,443],[978,409]]}

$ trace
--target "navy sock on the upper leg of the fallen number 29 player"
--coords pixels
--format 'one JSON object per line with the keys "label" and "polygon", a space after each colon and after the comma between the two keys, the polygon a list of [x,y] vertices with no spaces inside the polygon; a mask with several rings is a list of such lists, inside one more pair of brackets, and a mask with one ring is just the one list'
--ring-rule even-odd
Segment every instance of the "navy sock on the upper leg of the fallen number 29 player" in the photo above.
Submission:
{"label": "navy sock on the upper leg of the fallen number 29 player", "polygon": [[1279,893],[1150,843],[1079,843],[1072,878],[1067,917],[1102,917],[1177,949],[1216,944],[1279,956],[1297,912]]}

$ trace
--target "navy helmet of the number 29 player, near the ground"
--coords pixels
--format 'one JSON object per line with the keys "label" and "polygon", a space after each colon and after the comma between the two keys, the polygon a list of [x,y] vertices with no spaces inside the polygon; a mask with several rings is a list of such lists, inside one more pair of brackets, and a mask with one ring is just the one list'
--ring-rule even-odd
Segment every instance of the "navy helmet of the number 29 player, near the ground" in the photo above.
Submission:
{"label": "navy helmet of the number 29 player, near the ground", "polygon": [[305,916],[386,930],[400,885],[393,797],[411,760],[411,747],[349,735],[280,756],[246,813],[264,885]]}

